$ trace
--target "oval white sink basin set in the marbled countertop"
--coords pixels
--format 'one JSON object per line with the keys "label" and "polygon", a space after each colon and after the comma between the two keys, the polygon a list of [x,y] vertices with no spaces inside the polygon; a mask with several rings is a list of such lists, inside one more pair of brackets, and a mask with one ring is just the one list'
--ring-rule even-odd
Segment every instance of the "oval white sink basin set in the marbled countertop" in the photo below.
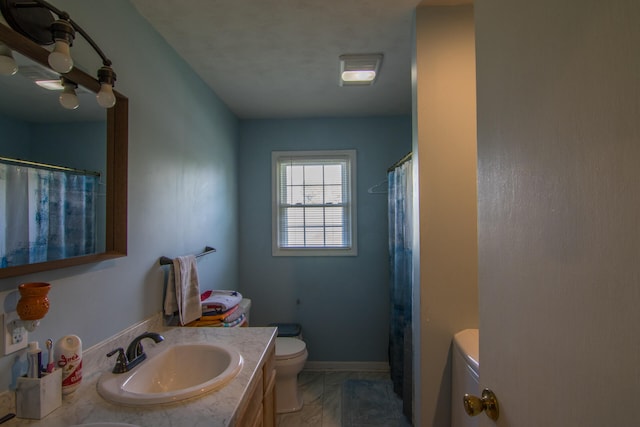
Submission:
{"label": "oval white sink basin set in the marbled countertop", "polygon": [[98,393],[132,406],[175,402],[222,388],[240,372],[242,362],[240,353],[228,347],[168,345],[130,372],[103,374]]}

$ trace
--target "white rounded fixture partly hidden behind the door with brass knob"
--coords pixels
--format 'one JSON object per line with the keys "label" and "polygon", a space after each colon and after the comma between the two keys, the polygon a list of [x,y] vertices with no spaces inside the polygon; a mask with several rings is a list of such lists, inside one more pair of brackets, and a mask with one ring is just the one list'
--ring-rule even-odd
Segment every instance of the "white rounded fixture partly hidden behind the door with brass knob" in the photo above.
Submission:
{"label": "white rounded fixture partly hidden behind the door with brass knob", "polygon": [[479,334],[477,329],[465,329],[453,336],[451,369],[451,427],[476,427],[478,417],[470,417],[462,402],[465,393],[481,395]]}

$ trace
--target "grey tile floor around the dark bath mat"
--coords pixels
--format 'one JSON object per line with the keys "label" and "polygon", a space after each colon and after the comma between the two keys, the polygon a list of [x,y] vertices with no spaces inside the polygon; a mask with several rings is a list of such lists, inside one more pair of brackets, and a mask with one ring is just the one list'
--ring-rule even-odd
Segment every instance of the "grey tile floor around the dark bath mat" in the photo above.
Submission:
{"label": "grey tile floor around the dark bath mat", "polygon": [[304,406],[298,412],[277,416],[278,427],[340,427],[342,383],[348,379],[389,379],[388,372],[302,371],[298,385]]}

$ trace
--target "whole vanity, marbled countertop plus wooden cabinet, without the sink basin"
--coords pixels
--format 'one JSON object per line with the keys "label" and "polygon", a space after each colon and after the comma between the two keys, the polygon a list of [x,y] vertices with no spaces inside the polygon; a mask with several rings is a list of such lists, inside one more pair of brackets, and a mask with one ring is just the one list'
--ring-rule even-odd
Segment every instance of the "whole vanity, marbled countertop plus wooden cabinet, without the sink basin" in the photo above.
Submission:
{"label": "whole vanity, marbled countertop plus wooden cabinet, without the sink basin", "polygon": [[[41,420],[14,418],[11,425],[69,427],[98,422],[142,427],[275,425],[276,328],[166,328],[158,324],[161,324],[160,316],[85,351],[82,383],[75,392],[64,396],[61,407]],[[145,331],[164,336],[164,341],[158,344],[150,340],[143,342],[149,358],[172,344],[214,343],[238,350],[243,358],[242,368],[222,388],[198,397],[146,406],[110,403],[100,396],[96,387],[101,375],[110,372],[115,363],[115,359],[107,358],[106,354],[117,347],[126,348],[134,337]],[[10,400],[0,397],[3,413],[13,412]]]}

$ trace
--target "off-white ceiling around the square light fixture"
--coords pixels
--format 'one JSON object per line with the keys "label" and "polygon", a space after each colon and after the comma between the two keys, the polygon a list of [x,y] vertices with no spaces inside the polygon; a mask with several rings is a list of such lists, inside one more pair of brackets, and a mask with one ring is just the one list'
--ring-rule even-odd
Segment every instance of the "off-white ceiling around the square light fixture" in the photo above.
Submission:
{"label": "off-white ceiling around the square light fixture", "polygon": [[[131,0],[240,118],[409,114],[420,0]],[[340,87],[342,54],[382,53],[373,86]]]}

